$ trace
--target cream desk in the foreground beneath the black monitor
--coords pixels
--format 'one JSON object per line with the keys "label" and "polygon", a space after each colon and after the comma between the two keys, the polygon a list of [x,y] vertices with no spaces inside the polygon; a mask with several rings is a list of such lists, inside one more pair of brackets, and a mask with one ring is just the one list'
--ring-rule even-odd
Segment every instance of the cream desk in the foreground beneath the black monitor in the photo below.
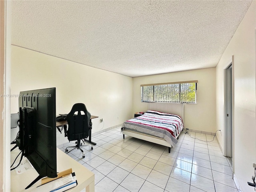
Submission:
{"label": "cream desk in the foreground beneath the black monitor", "polygon": [[[20,150],[18,148],[16,148],[11,152],[11,164],[16,158],[16,156],[19,154],[19,152]],[[23,157],[22,161],[24,160],[26,160],[26,157]],[[86,192],[94,192],[94,173],[57,148],[57,171],[61,172],[69,168],[72,168],[72,171],[75,172],[78,185],[74,188],[67,190],[67,192],[81,191],[84,188],[86,188]],[[30,188],[26,190],[25,188],[37,176],[38,176],[38,173],[34,168],[29,169],[20,175],[16,174],[15,170],[12,170],[11,171],[11,191],[12,192],[32,191],[34,188],[36,188],[41,184],[41,180],[36,182]]]}

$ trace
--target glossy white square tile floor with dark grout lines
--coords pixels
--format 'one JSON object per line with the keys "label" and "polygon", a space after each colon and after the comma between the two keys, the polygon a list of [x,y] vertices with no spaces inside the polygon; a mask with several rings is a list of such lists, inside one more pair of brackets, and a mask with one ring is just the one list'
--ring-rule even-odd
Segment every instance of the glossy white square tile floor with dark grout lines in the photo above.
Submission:
{"label": "glossy white square tile floor with dark grout lines", "polygon": [[123,139],[119,127],[93,136],[97,145],[84,147],[85,158],[80,150],[69,156],[95,173],[96,192],[238,192],[216,138],[190,136],[182,132],[168,153],[165,146]]}

